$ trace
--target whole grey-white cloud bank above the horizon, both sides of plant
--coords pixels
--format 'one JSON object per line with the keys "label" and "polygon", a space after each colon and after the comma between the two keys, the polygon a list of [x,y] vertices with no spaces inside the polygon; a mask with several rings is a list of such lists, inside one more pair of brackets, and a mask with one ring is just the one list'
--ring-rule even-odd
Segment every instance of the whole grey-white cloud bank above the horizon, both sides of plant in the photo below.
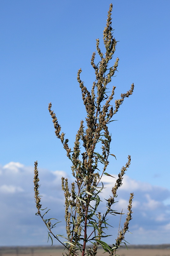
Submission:
{"label": "whole grey-white cloud bank above the horizon, both sides of plant", "polygon": [[[0,245],[47,245],[47,229],[42,220],[35,215],[36,207],[33,191],[33,167],[11,162],[0,167]],[[116,175],[112,174],[114,177]],[[61,177],[68,175],[63,171],[39,170],[40,195],[42,208],[48,207],[49,218],[62,221],[56,227],[56,234],[63,234],[64,196],[61,190]],[[70,175],[70,180],[71,175]],[[101,195],[103,201],[101,210],[105,211],[105,198],[111,195],[115,179],[104,176],[104,187]],[[71,182],[71,181],[70,181]],[[170,232],[170,190],[152,186],[124,176],[123,185],[118,190],[115,210],[127,212],[130,192],[134,192],[132,204],[133,216],[129,225],[126,241],[130,244],[165,244],[169,243]],[[113,238],[115,242],[120,217],[111,217],[109,223],[114,226]],[[122,217],[121,224],[126,218]],[[110,231],[110,230],[109,230]],[[108,239],[107,239],[108,241]]]}

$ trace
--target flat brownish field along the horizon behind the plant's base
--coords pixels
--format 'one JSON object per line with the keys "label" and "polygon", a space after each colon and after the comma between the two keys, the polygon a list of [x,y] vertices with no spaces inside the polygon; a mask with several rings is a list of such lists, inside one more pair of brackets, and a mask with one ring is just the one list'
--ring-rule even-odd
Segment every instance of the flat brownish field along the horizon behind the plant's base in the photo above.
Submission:
{"label": "flat brownish field along the horizon behind the plant's base", "polygon": [[[97,256],[108,256],[99,250]],[[170,256],[168,249],[139,249],[130,248],[129,250],[121,248],[117,251],[120,256]],[[63,249],[55,247],[0,247],[0,256],[62,256]]]}

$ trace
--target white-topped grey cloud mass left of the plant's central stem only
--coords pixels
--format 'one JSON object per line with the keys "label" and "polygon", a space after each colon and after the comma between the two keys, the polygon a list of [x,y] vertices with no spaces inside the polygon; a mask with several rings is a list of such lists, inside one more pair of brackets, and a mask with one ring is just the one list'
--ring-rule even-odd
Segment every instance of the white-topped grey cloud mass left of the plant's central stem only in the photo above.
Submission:
{"label": "white-topped grey cloud mass left of the plant's central stem only", "polygon": [[[0,167],[0,245],[47,244],[46,227],[35,215],[33,170],[33,166],[14,162]],[[42,208],[48,207],[51,209],[49,217],[60,220],[63,220],[64,212],[62,176],[66,177],[63,171],[39,169]]]}

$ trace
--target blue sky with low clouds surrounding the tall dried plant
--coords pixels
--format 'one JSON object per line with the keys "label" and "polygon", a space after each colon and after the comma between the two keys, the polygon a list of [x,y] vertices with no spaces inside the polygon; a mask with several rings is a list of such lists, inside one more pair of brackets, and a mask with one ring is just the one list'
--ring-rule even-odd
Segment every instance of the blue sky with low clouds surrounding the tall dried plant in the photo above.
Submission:
{"label": "blue sky with low clouds surrounding the tall dried plant", "polygon": [[[126,189],[131,184],[136,203],[133,235],[128,241],[169,243],[163,234],[168,237],[170,232],[170,2],[112,3],[112,27],[119,41],[115,58],[120,61],[110,88],[116,86],[115,99],[132,83],[135,90],[116,114],[118,121],[110,125],[111,150],[117,161],[110,161],[108,172],[116,175],[131,155],[119,205],[125,205]],[[96,38],[102,45],[109,4],[107,0],[1,1],[0,202],[4,212],[0,245],[47,242],[43,223],[34,216],[34,161],[44,173],[41,190],[51,208],[62,204],[54,199],[54,193],[62,198],[58,180],[56,187],[50,187],[53,176],[65,173],[71,179],[70,162],[55,137],[48,103],[52,102],[72,147],[80,120],[85,119],[77,71],[82,68],[81,78],[90,90],[94,80],[91,55],[96,50]],[[11,229],[13,236],[8,235]],[[154,234],[152,241],[146,240],[146,234]]]}

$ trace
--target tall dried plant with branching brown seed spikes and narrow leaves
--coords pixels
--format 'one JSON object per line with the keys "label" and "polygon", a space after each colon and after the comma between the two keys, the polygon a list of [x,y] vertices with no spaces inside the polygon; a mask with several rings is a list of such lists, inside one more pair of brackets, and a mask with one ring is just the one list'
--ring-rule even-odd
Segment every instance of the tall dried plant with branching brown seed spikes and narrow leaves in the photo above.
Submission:
{"label": "tall dried plant with branching brown seed spikes and narrow leaves", "polygon": [[[106,28],[103,31],[103,41],[106,49],[105,56],[100,50],[99,39],[96,40],[96,49],[101,60],[97,65],[94,63],[96,53],[93,52],[92,54],[91,65],[95,70],[96,80],[93,82],[91,92],[87,90],[84,82],[80,79],[82,70],[78,70],[77,80],[81,88],[87,116],[85,118],[85,125],[83,121],[80,122],[80,128],[76,134],[73,149],[69,148],[69,140],[65,139],[65,133],[61,133],[61,126],[58,124],[55,113],[51,110],[51,103],[48,107],[49,113],[53,119],[56,137],[61,140],[63,148],[66,150],[67,156],[72,162],[71,170],[75,178],[75,182],[71,184],[70,189],[68,179],[62,177],[62,190],[65,196],[66,241],[60,242],[67,249],[68,253],[66,253],[66,255],[69,256],[84,256],[85,254],[95,256],[99,246],[102,246],[104,251],[108,252],[109,255],[115,255],[117,248],[124,240],[125,233],[129,228],[129,221],[132,218],[131,205],[133,194],[130,194],[127,218],[124,223],[124,228],[119,232],[115,244],[110,246],[103,241],[103,238],[108,236],[105,234],[105,229],[108,227],[108,214],[122,214],[112,210],[112,206],[117,197],[117,189],[122,186],[123,175],[130,165],[130,156],[128,156],[128,162],[125,167],[122,167],[121,172],[118,174],[118,179],[115,182],[115,186],[112,188],[113,196],[110,196],[106,200],[106,212],[98,212],[100,193],[103,189],[101,179],[103,174],[111,176],[106,172],[109,164],[108,158],[109,156],[115,157],[114,154],[110,153],[111,135],[108,131],[108,124],[114,121],[112,120],[113,115],[116,114],[123,100],[128,98],[134,89],[134,85],[132,84],[128,92],[121,94],[121,98],[115,100],[115,109],[113,108],[111,101],[113,100],[116,87],[113,86],[111,94],[108,95],[107,84],[111,82],[117,70],[119,59],[116,58],[114,65],[109,67],[117,43],[115,38],[113,38],[111,12],[112,4],[110,4]],[[84,148],[83,151],[80,147],[81,144],[83,146],[81,147]],[[99,144],[101,153],[97,152]],[[45,212],[43,216],[41,215],[38,181],[37,162],[35,162],[35,201],[38,209],[37,214],[43,219],[48,211]],[[53,236],[59,241],[59,235],[55,236],[51,231],[55,224],[52,225],[50,220],[52,219],[43,219],[48,227],[48,237],[52,240]],[[86,249],[87,242],[92,243],[92,248]]]}

